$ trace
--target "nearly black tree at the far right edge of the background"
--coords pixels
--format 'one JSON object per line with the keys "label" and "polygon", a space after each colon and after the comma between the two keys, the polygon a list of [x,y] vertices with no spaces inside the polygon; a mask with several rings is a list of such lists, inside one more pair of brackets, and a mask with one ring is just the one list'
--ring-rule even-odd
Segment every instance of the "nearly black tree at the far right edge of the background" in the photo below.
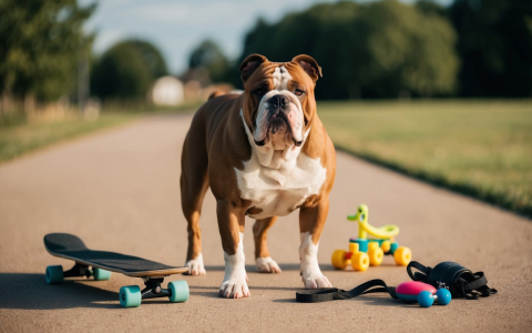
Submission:
{"label": "nearly black tree at the far right edge of the background", "polygon": [[466,97],[532,95],[532,2],[456,0],[459,74]]}

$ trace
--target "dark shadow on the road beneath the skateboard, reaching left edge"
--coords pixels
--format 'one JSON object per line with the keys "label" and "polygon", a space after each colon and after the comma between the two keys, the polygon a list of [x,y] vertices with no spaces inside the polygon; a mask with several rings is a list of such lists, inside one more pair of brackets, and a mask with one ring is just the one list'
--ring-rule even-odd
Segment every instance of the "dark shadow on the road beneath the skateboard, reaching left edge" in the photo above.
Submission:
{"label": "dark shadow on the road beneath the skateboard, reaching left edge", "polygon": [[[119,293],[84,283],[64,281],[49,285],[44,274],[0,273],[0,309],[54,310],[71,307],[117,309]],[[100,302],[113,301],[115,304]]]}

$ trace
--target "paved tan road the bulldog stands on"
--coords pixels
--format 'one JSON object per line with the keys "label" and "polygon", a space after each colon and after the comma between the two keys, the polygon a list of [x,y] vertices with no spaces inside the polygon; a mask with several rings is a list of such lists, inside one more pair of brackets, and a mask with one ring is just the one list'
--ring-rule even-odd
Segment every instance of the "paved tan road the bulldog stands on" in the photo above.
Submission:
{"label": "paved tan road the bulldog stands on", "polygon": [[370,208],[370,223],[396,223],[398,241],[413,258],[434,265],[452,260],[484,271],[499,294],[479,301],[420,309],[386,296],[319,304],[295,303],[298,272],[297,214],[279,219],[269,248],[284,272],[255,271],[250,225],[246,230],[250,299],[216,296],[223,252],[214,200],[207,193],[202,228],[206,276],[185,279],[191,300],[149,300],[121,309],[121,285],[140,280],[114,274],[111,281],[75,281],[49,286],[49,264],[70,265],[44,250],[49,232],[80,235],[89,246],[150,258],[185,261],[185,220],[180,208],[180,157],[190,115],[153,117],[112,131],[0,165],[0,331],[528,331],[532,325],[532,223],[469,198],[450,193],[338,153],[330,213],[319,261],[338,287],[370,279],[391,285],[407,281],[403,268],[385,264],[365,273],[334,271],[335,249],[347,248],[357,228],[346,221],[358,203]]}

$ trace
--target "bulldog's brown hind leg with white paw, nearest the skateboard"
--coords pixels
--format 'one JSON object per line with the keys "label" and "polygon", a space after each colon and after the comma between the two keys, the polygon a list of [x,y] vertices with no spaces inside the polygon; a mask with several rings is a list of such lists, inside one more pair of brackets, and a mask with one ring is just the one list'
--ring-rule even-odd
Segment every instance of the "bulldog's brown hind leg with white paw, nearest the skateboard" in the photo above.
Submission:
{"label": "bulldog's brown hind leg with white paw, nearest the skateboard", "polygon": [[[183,144],[181,160],[181,206],[188,223],[188,250],[185,266],[188,268],[190,275],[205,275],[200,215],[203,199],[208,189],[208,158],[206,150],[201,149],[205,147],[205,143],[202,143],[202,141],[205,142],[205,137],[195,134],[197,131],[194,131],[192,127]],[[192,142],[194,142],[194,147],[191,145]]]}

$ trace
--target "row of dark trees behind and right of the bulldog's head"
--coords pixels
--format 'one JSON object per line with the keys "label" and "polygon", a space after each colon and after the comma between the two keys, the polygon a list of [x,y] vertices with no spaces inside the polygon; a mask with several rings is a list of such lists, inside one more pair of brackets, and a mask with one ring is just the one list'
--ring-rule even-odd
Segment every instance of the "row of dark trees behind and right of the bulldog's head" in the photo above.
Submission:
{"label": "row of dark trees behind and right of the bulldog's head", "polygon": [[314,6],[258,20],[225,80],[241,85],[249,53],[274,61],[313,56],[320,99],[532,95],[532,1],[421,0]]}

